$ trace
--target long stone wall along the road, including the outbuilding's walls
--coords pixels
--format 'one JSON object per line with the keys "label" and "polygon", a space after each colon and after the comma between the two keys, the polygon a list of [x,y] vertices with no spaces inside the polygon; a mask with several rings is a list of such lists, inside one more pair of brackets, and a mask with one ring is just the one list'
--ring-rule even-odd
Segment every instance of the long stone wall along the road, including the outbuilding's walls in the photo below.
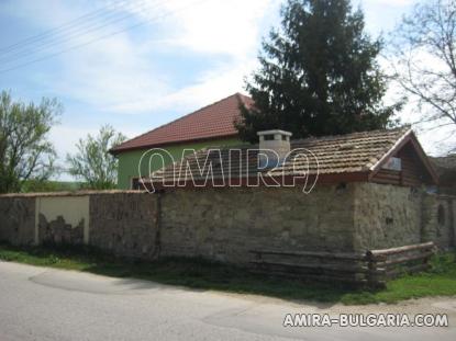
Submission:
{"label": "long stone wall along the road, including the outbuilding's walls", "polygon": [[[5,195],[0,239],[86,242],[125,257],[201,255],[237,263],[249,261],[252,249],[363,252],[426,240],[446,247],[454,218],[436,225],[440,201],[375,183],[318,185],[308,195],[289,187]],[[453,201],[444,203],[454,209]]]}

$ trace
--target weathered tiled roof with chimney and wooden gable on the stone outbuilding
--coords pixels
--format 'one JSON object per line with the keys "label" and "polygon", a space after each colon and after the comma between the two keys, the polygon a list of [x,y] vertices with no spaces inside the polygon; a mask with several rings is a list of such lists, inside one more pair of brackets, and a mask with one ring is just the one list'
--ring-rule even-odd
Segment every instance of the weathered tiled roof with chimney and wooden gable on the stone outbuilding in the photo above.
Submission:
{"label": "weathered tiled roof with chimney and wooden gable on the stone outbuilding", "polygon": [[[435,169],[409,127],[294,140],[290,140],[291,134],[283,130],[260,132],[258,135],[260,141],[256,146],[231,146],[222,148],[221,152],[215,147],[202,148],[175,164],[155,171],[153,179],[157,185],[169,185],[169,181],[177,178],[188,181],[189,185],[191,180],[196,180],[198,186],[198,181],[205,181],[207,177],[205,173],[200,174],[198,167],[212,161],[216,164],[212,167],[214,178],[224,178],[226,183],[229,180],[233,182],[233,178],[243,183],[248,178],[257,178],[258,173],[268,179],[280,178],[283,173],[293,177],[300,172],[309,173],[312,179],[318,175],[315,180],[319,184],[374,182],[418,187],[437,182]],[[283,149],[283,143],[288,145],[287,152],[291,151],[289,161],[274,169],[259,168],[262,151],[275,149],[283,154],[283,150],[279,151],[279,148]],[[308,152],[299,152],[302,149]],[[236,150],[238,152],[234,154]],[[233,154],[234,158],[227,160]],[[297,157],[296,154],[301,159],[292,167],[291,159]],[[180,172],[187,163],[192,172]],[[308,179],[303,181],[309,183]]]}

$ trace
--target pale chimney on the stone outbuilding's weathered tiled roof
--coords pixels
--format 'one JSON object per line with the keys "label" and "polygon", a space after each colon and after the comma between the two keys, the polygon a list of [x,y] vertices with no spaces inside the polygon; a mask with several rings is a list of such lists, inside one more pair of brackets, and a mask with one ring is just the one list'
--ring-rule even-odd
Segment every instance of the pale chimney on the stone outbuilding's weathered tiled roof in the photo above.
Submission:
{"label": "pale chimney on the stone outbuilding's weathered tiled roof", "polygon": [[[259,167],[268,168],[280,164],[290,151],[291,133],[273,129],[256,133],[259,136]],[[277,160],[277,155],[279,159]]]}

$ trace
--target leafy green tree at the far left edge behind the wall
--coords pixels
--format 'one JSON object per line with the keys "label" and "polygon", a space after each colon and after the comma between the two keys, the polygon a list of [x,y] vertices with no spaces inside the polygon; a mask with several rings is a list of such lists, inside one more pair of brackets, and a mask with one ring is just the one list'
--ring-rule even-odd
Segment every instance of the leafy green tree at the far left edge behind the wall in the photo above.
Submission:
{"label": "leafy green tree at the far left edge behind the wall", "polygon": [[44,181],[54,174],[56,154],[47,138],[60,111],[56,100],[25,104],[1,92],[0,193],[20,192],[25,181]]}

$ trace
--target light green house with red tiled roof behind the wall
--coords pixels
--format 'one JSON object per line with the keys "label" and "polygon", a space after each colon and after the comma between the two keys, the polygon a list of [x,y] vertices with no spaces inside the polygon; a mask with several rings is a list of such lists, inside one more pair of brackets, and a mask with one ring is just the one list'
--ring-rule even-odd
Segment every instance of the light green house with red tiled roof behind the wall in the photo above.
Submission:
{"label": "light green house with red tiled roof behind the wall", "polygon": [[[241,117],[240,105],[248,107],[252,103],[251,98],[235,93],[116,146],[111,152],[119,158],[119,189],[137,187],[138,163],[151,148],[163,148],[179,159],[185,149],[240,144],[234,121]],[[143,172],[160,168],[160,161],[153,160],[151,169],[143,164]],[[169,162],[167,158],[163,161]]]}

